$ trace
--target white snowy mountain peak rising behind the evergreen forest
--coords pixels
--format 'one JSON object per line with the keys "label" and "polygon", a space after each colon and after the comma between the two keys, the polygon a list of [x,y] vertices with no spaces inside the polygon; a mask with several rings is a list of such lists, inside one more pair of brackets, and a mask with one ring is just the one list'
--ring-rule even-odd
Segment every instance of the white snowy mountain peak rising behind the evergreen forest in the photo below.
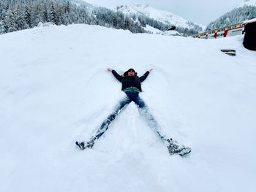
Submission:
{"label": "white snowy mountain peak rising behind the evergreen forest", "polygon": [[178,15],[175,15],[171,12],[162,11],[159,9],[155,9],[148,5],[143,4],[131,4],[131,5],[123,5],[117,7],[117,9],[126,14],[138,14],[138,15],[146,15],[148,18],[153,18],[154,20],[159,20],[162,23],[175,25],[183,28],[194,28],[197,26],[196,24],[181,18]]}

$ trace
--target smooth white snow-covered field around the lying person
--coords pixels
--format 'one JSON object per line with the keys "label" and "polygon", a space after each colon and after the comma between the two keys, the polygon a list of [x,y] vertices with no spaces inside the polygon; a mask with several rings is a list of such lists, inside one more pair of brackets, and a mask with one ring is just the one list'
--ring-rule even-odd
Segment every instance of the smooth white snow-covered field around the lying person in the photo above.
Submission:
{"label": "smooth white snow-covered field around the lying person", "polygon": [[[0,191],[255,191],[256,53],[242,40],[86,25],[1,35]],[[94,149],[75,147],[124,97],[107,67],[154,69],[140,95],[191,154],[170,156],[135,104]]]}

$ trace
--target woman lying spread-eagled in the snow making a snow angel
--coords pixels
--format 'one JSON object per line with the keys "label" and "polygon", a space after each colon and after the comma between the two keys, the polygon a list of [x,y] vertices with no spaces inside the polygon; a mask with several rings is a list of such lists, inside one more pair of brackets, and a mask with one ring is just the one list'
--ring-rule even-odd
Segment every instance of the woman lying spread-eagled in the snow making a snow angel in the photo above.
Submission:
{"label": "woman lying spread-eagled in the snow making a snow angel", "polygon": [[127,72],[124,72],[124,74],[119,75],[115,70],[108,69],[108,72],[112,72],[112,74],[116,77],[116,79],[121,82],[122,88],[121,91],[124,91],[126,93],[126,97],[122,99],[118,106],[116,107],[116,110],[114,110],[113,113],[111,113],[108,118],[106,118],[102,125],[97,129],[97,131],[92,135],[89,142],[75,142],[80,149],[84,150],[86,148],[91,148],[94,146],[94,142],[96,139],[99,139],[99,137],[102,136],[102,134],[105,133],[105,131],[108,130],[108,126],[110,126],[110,123],[113,122],[113,120],[116,119],[116,117],[120,114],[120,112],[124,109],[127,104],[130,102],[135,102],[135,104],[138,105],[138,109],[140,111],[140,114],[143,115],[144,118],[146,118],[148,125],[156,131],[156,133],[159,135],[159,137],[162,139],[163,142],[165,142],[165,145],[167,145],[167,148],[169,150],[170,155],[173,154],[179,154],[184,155],[187,153],[190,153],[191,149],[189,147],[184,147],[182,145],[178,145],[178,142],[174,141],[171,138],[167,138],[165,134],[162,133],[162,129],[160,128],[159,124],[157,123],[157,120],[154,119],[153,115],[148,112],[148,107],[146,106],[145,102],[140,98],[139,93],[141,92],[141,82],[146,80],[146,77],[148,77],[148,74],[153,69],[149,69],[143,76],[138,77],[137,73],[134,69],[129,69]]}

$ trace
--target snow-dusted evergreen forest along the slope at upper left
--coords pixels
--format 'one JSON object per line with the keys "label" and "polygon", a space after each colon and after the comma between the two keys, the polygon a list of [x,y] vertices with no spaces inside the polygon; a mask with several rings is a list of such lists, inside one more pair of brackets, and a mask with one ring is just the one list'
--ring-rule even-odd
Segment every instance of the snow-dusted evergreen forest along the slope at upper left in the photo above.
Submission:
{"label": "snow-dusted evergreen forest along the slope at upper left", "polygon": [[[146,25],[164,31],[168,25],[143,15],[124,15],[105,7],[89,7],[68,0],[1,0],[0,34],[33,28],[39,22],[55,25],[85,23],[146,33]],[[200,28],[178,27],[184,36],[197,34]]]}

